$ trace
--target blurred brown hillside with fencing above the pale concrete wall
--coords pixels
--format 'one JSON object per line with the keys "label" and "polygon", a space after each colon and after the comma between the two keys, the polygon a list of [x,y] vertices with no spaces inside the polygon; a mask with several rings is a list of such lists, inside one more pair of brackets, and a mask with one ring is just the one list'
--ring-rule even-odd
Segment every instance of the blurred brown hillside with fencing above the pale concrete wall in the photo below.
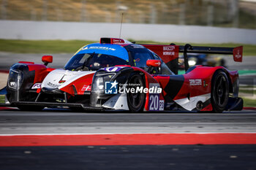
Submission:
{"label": "blurred brown hillside with fencing above the pale concrete wall", "polygon": [[124,23],[256,28],[248,0],[0,0],[1,20],[119,23],[121,12]]}

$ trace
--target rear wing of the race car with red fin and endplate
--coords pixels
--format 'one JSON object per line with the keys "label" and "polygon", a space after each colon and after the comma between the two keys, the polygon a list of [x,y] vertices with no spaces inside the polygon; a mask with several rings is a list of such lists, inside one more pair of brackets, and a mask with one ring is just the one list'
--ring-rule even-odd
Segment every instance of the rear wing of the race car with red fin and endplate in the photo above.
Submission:
{"label": "rear wing of the race car with red fin and endplate", "polygon": [[222,54],[233,55],[233,60],[242,62],[243,46],[240,47],[203,47],[192,45],[143,45],[144,47],[157,53],[169,69],[178,74],[178,53],[184,53],[185,70],[189,69],[187,53],[205,53],[205,54]]}

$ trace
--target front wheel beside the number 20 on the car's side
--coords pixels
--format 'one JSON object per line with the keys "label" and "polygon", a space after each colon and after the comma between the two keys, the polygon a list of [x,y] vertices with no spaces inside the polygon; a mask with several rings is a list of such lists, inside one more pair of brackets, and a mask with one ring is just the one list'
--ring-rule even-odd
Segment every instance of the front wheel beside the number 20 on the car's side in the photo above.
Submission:
{"label": "front wheel beside the number 20 on the car's side", "polygon": [[[132,76],[129,77],[128,80],[128,88],[135,88],[136,90],[137,87],[145,88],[143,77],[141,77],[140,74],[132,74]],[[129,111],[142,112],[145,105],[145,99],[146,93],[127,93],[127,103]]]}

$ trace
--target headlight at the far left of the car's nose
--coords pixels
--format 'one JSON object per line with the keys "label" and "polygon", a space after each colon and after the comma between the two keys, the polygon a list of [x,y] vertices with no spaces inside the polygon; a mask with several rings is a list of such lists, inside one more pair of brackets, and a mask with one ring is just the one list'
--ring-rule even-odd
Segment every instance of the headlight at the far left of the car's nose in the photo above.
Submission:
{"label": "headlight at the far left of the car's nose", "polygon": [[23,72],[10,69],[9,77],[8,77],[9,88],[14,88],[15,90],[19,90],[22,81],[23,81]]}

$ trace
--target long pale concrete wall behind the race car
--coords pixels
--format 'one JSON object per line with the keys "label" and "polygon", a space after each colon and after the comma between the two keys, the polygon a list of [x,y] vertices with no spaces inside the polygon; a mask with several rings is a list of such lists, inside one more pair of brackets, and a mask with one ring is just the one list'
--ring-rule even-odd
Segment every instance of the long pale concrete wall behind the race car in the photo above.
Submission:
{"label": "long pale concrete wall behind the race car", "polygon": [[[0,20],[0,39],[84,39],[118,37],[120,23]],[[124,23],[121,37],[157,42],[242,43],[256,45],[256,30],[206,26]]]}

